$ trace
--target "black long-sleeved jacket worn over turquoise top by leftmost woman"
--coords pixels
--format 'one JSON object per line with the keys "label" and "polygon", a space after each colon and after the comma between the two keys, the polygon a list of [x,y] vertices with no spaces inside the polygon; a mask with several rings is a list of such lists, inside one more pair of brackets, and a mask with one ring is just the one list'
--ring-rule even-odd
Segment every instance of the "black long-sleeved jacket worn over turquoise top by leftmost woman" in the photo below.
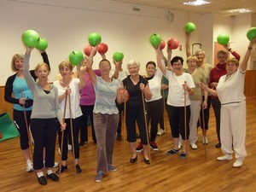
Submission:
{"label": "black long-sleeved jacket worn over turquoise top by leftmost woman", "polygon": [[[46,54],[46,52],[41,53],[41,55],[43,57],[44,63],[48,64],[48,66],[49,66],[49,59],[48,59],[48,55]],[[49,69],[50,69],[50,67],[49,67]],[[35,70],[31,70],[30,73],[32,75],[32,78],[35,79],[35,81],[36,81],[37,76],[36,76]],[[10,76],[6,81],[5,88],[4,88],[4,99],[6,102],[19,104],[20,98],[15,98],[12,96],[13,84],[14,84],[16,75],[17,75],[17,73]]]}

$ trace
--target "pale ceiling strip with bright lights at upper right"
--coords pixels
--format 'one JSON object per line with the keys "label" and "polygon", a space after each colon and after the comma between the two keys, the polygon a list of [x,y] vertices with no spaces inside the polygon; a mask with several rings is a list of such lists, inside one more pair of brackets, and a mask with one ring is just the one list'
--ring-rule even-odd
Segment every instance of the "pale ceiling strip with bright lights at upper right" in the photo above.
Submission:
{"label": "pale ceiling strip with bright lights at upper right", "polygon": [[218,15],[238,15],[231,14],[230,9],[250,9],[256,13],[256,0],[207,0],[210,4],[198,7],[184,5],[184,2],[194,0],[111,0],[119,3],[129,3],[132,5],[142,5],[163,9],[173,9],[197,14],[214,13]]}

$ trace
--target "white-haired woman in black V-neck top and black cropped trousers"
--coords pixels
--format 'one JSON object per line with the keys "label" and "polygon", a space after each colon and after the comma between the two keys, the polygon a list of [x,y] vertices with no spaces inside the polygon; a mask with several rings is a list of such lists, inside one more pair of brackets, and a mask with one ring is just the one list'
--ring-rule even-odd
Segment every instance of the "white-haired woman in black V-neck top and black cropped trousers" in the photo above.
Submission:
{"label": "white-haired woman in black V-neck top and black cropped trousers", "polygon": [[144,110],[143,110],[143,97],[146,100],[150,100],[152,93],[149,89],[148,80],[139,75],[140,63],[136,60],[131,60],[127,64],[128,75],[122,82],[122,86],[128,91],[130,98],[126,103],[126,128],[127,128],[127,141],[131,145],[132,156],[131,163],[137,161],[136,150],[136,122],[141,136],[141,142],[143,144],[144,162],[150,164],[148,157],[148,130],[145,125]]}

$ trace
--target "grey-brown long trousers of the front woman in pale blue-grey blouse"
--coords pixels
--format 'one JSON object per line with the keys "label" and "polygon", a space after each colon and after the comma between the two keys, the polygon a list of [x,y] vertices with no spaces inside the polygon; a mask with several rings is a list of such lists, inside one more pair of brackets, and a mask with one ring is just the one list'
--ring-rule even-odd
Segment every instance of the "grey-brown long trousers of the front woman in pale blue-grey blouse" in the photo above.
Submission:
{"label": "grey-brown long trousers of the front woman in pale blue-grey blouse", "polygon": [[108,172],[112,165],[113,144],[119,124],[119,114],[93,113],[94,129],[97,141],[97,170]]}

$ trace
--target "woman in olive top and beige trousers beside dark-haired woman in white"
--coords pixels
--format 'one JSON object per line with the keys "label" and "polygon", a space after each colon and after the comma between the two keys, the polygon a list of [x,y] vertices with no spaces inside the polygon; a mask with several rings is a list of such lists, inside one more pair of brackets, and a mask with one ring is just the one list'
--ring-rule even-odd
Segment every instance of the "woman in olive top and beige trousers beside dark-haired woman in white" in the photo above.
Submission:
{"label": "woman in olive top and beige trousers beside dark-haired woman in white", "polygon": [[[197,58],[195,56],[189,56],[187,58],[187,64],[188,68],[184,69],[185,73],[189,73],[195,83],[195,94],[194,96],[189,96],[190,99],[190,120],[189,120],[189,142],[190,146],[193,149],[197,148],[197,145],[195,144],[197,142],[197,120],[200,116],[200,110],[201,110],[201,105],[203,108],[207,108],[207,101],[204,100],[203,102],[201,101],[201,88],[199,87],[199,82],[207,83],[206,82],[206,77],[202,71],[196,67],[196,61]],[[207,91],[204,91],[204,96],[207,98]]]}

